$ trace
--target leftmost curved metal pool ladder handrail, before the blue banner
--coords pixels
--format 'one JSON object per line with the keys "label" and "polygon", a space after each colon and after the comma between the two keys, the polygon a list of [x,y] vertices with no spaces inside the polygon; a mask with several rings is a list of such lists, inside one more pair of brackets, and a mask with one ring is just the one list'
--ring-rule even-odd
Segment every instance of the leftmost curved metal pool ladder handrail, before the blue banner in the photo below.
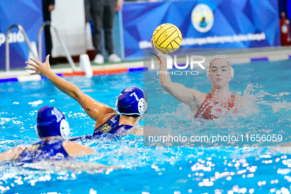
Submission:
{"label": "leftmost curved metal pool ladder handrail, before the blue banner", "polygon": [[37,55],[34,53],[34,51],[32,50],[32,46],[31,46],[31,41],[30,39],[28,38],[24,28],[22,26],[20,26],[19,24],[15,24],[15,25],[12,25],[8,28],[8,30],[6,31],[6,37],[5,37],[5,61],[6,61],[6,71],[10,71],[10,53],[9,53],[9,42],[8,42],[8,35],[10,33],[10,31],[13,29],[13,28],[18,28],[19,31],[23,34],[24,36],[24,39],[26,41],[26,44],[28,45],[30,51],[32,52],[32,56],[37,59]]}

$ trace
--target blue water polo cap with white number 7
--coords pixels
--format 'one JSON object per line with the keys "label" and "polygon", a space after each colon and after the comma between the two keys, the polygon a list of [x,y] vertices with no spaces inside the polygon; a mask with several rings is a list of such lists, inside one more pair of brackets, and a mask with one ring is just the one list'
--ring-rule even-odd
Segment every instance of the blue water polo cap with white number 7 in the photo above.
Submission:
{"label": "blue water polo cap with white number 7", "polygon": [[123,115],[142,116],[147,110],[147,99],[140,88],[129,87],[121,92],[115,106]]}

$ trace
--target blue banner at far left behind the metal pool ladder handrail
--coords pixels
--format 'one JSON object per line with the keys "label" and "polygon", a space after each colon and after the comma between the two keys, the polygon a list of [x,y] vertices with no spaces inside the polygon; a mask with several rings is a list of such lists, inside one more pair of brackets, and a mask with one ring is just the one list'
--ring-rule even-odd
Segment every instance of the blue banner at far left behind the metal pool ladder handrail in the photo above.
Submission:
{"label": "blue banner at far left behind the metal pool ladder handrail", "polygon": [[[43,23],[41,0],[1,0],[0,1],[0,70],[5,69],[5,35],[7,29],[21,25],[30,41],[37,43],[38,29]],[[13,29],[8,36],[10,46],[10,68],[25,67],[29,48],[24,36]]]}

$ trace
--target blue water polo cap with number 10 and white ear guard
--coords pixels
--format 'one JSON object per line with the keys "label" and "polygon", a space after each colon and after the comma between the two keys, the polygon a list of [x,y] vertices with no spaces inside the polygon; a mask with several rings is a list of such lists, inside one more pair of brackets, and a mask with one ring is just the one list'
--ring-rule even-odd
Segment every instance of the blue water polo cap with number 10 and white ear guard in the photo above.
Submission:
{"label": "blue water polo cap with number 10 and white ear guard", "polygon": [[66,139],[70,133],[70,127],[64,114],[56,107],[43,106],[36,117],[35,132],[39,138],[61,136]]}

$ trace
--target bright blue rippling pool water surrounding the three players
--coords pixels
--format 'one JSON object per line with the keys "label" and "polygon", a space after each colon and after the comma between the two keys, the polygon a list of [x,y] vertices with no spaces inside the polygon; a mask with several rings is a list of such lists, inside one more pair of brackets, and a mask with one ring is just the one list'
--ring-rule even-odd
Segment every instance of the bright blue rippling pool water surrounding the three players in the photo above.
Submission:
{"label": "bright blue rippling pool water surrounding the three players", "polygon": [[[248,93],[246,96],[252,101],[251,111],[200,122],[199,126],[210,131],[219,126],[233,130],[282,129],[288,133],[291,129],[290,63],[288,60],[234,65],[235,77],[229,87],[234,93]],[[208,92],[210,83],[205,77],[200,73],[196,77],[198,81],[187,87]],[[65,79],[112,107],[123,88],[143,88],[142,72]],[[154,80],[151,84],[158,87],[159,81]],[[149,115],[154,115],[160,108],[154,94],[163,91],[160,88],[158,92],[146,92]],[[193,120],[188,116],[190,110],[183,104],[173,101],[167,94],[161,100],[168,100],[172,106],[169,113],[156,120],[152,118],[153,126],[162,128],[161,122],[181,123],[183,118],[189,122]],[[43,105],[56,106],[65,113],[71,128],[70,136],[92,134],[94,130],[95,122],[78,103],[48,80],[0,83],[0,101],[0,152],[37,141],[35,116]],[[181,113],[181,117],[173,118],[172,112]],[[195,122],[194,119],[194,125]],[[187,126],[185,129],[189,130]],[[0,193],[289,194],[291,189],[290,147],[144,147],[140,129],[120,138],[104,137],[78,143],[90,146],[97,154],[74,159],[72,162],[79,162],[74,163],[75,167],[51,167],[52,163],[47,161],[25,166],[1,163]],[[97,163],[106,167],[97,168],[94,165]]]}

